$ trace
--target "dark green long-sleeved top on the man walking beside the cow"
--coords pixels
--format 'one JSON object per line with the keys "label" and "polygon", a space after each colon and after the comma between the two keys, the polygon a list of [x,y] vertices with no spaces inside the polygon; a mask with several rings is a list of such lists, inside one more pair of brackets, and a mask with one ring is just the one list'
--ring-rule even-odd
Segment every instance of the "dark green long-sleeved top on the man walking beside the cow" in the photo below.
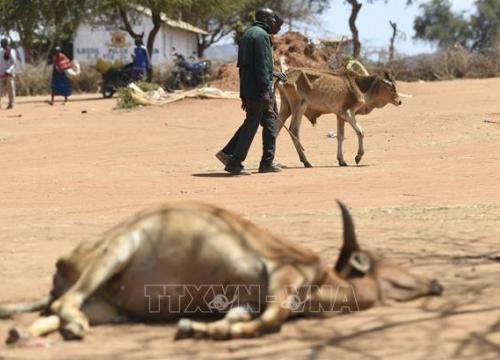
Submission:
{"label": "dark green long-sleeved top on the man walking beside the cow", "polygon": [[260,99],[266,91],[273,94],[273,47],[267,25],[255,22],[240,41],[238,68],[240,97]]}

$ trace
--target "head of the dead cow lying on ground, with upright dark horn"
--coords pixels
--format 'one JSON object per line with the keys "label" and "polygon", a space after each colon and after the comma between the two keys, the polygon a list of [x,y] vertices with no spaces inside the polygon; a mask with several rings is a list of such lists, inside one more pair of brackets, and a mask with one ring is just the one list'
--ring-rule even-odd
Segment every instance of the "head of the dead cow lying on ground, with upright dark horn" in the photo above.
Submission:
{"label": "head of the dead cow lying on ground, with upright dark horn", "polygon": [[349,211],[342,203],[339,202],[339,205],[344,223],[344,242],[335,272],[354,286],[360,300],[366,299],[370,303],[377,300],[408,301],[443,292],[443,287],[436,280],[411,274],[372,252],[362,250]]}

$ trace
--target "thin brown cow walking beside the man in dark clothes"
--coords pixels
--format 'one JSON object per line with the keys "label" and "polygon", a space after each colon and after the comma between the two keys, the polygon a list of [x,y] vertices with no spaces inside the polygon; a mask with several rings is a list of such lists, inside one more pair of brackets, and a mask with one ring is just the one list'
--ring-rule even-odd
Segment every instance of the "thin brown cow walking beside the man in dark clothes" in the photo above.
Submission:
{"label": "thin brown cow walking beside the man in dark clothes", "polygon": [[385,73],[384,77],[360,76],[353,71],[332,72],[306,68],[292,68],[287,71],[288,82],[278,84],[281,97],[279,118],[281,126],[292,116],[290,130],[292,141],[305,167],[312,167],[300,145],[300,125],[305,115],[313,125],[323,114],[337,115],[337,160],[340,166],[347,166],[342,152],[344,127],[347,121],[358,136],[359,164],[364,154],[364,132],[356,120],[356,114],[369,114],[374,108],[391,103],[401,105],[394,78]]}

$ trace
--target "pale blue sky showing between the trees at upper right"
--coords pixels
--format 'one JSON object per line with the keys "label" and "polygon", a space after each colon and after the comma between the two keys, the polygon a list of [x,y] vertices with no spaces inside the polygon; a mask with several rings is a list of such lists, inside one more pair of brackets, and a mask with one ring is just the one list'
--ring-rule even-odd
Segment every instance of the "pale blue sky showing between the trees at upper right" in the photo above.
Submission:
{"label": "pale blue sky showing between the trees at upper right", "polygon": [[[318,18],[316,25],[309,25],[307,29],[301,29],[307,32],[309,37],[350,36],[348,25],[350,6],[346,5],[343,0],[332,2],[333,5]],[[452,3],[454,11],[471,12],[475,8],[474,0],[453,0]],[[420,9],[418,4],[411,6],[405,4],[406,0],[388,0],[387,4],[383,0],[378,0],[373,4],[365,3],[363,5],[357,25],[365,47],[388,47],[392,34],[392,28],[389,25],[389,20],[391,20],[396,22],[398,28],[406,34],[406,40],[399,39],[397,41],[396,51],[416,54],[433,50],[428,43],[413,40],[413,19],[420,14]]]}

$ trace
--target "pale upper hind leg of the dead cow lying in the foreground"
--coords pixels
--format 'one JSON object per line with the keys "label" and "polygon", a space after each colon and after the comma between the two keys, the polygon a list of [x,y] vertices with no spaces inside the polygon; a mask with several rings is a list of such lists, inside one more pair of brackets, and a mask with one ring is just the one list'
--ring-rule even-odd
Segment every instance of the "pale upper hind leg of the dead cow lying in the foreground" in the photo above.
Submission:
{"label": "pale upper hind leg of the dead cow lying in the foreground", "polygon": [[97,248],[93,261],[82,271],[78,281],[51,305],[52,312],[61,318],[61,331],[66,339],[83,338],[89,328],[89,319],[80,308],[102,284],[127,266],[141,238],[142,232],[135,230]]}

